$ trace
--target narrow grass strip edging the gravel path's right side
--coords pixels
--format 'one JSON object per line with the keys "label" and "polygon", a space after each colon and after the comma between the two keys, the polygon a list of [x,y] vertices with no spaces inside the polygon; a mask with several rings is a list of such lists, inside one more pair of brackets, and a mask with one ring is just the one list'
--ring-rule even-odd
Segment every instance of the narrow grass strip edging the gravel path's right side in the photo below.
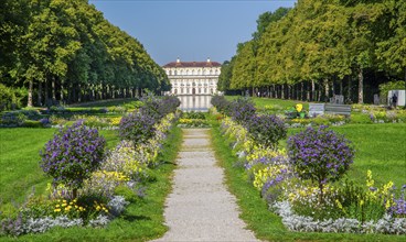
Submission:
{"label": "narrow grass strip edging the gravel path's right side", "polygon": [[268,210],[259,191],[247,182],[244,168],[236,167],[237,157],[222,136],[218,123],[212,130],[212,145],[218,163],[225,169],[226,184],[236,196],[241,207],[241,218],[259,240],[267,241],[405,241],[405,235],[350,234],[350,233],[301,233],[290,232],[281,219]]}

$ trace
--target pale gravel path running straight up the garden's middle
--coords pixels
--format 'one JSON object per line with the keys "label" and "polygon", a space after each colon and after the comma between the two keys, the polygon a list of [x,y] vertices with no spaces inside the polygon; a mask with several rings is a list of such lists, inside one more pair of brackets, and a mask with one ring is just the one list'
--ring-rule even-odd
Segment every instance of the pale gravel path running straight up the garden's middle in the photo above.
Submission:
{"label": "pale gravel path running straight up the garden's middle", "polygon": [[169,231],[157,241],[257,241],[238,218],[235,197],[225,188],[207,129],[184,129],[173,191],[164,211]]}

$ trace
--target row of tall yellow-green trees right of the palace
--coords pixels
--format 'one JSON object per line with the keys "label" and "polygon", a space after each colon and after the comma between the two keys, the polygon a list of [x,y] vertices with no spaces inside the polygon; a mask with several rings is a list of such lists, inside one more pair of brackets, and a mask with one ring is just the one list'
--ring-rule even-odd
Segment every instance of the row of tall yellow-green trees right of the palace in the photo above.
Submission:
{"label": "row of tall yellow-green trees right of the palace", "polygon": [[406,1],[298,0],[257,23],[224,63],[221,90],[363,103],[380,85],[406,79]]}

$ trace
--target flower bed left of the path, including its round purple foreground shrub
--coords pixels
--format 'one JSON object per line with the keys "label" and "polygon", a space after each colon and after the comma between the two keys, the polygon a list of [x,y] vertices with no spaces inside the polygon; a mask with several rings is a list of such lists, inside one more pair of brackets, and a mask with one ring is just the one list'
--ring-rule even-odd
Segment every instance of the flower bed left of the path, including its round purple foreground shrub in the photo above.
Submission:
{"label": "flower bed left of the path, including its round purple foreground shrub", "polygon": [[[83,121],[61,130],[43,151],[42,167],[54,177],[47,195],[31,196],[17,217],[0,222],[0,234],[44,232],[53,227],[101,228],[118,217],[129,202],[145,196],[149,170],[157,167],[167,133],[177,122],[170,109],[161,109],[153,134],[142,142],[122,141],[106,155],[97,130]],[[168,106],[160,102],[160,106]],[[61,139],[60,139],[61,138]],[[131,138],[132,139],[132,138]],[[86,142],[86,145],[84,145]],[[99,148],[96,155],[94,150]],[[84,153],[82,153],[84,152]]]}

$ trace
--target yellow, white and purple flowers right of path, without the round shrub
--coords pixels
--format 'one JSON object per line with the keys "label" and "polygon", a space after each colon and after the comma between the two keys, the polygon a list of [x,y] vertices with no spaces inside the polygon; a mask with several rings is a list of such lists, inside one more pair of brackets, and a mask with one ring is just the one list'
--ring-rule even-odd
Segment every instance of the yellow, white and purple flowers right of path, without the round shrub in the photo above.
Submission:
{"label": "yellow, white and purple flowers right of path, without the round shrub", "polygon": [[320,204],[318,186],[298,177],[285,150],[260,147],[229,118],[222,121],[222,130],[233,142],[253,186],[289,230],[406,233],[406,186],[396,198],[393,183],[373,187],[368,172],[365,187],[349,180],[324,187],[325,201]]}

